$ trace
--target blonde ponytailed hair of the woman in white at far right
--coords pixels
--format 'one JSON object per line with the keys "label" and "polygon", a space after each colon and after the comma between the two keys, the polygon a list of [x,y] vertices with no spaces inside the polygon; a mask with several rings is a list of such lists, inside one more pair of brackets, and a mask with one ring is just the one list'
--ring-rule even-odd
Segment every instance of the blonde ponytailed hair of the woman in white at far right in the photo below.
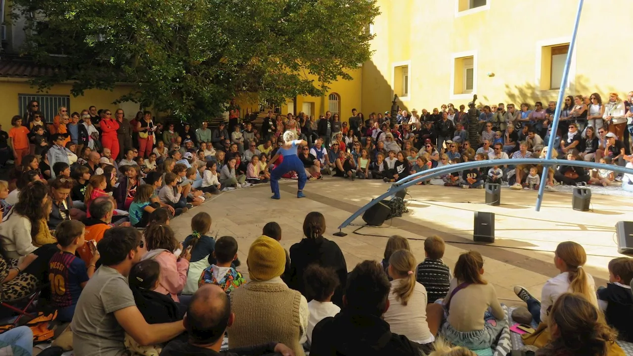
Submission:
{"label": "blonde ponytailed hair of the woman in white at far right", "polygon": [[587,272],[582,269],[582,266],[587,262],[585,249],[573,241],[561,242],[556,246],[556,257],[567,265],[569,289],[574,293],[584,295],[588,300],[592,300],[592,295],[596,292],[589,288]]}

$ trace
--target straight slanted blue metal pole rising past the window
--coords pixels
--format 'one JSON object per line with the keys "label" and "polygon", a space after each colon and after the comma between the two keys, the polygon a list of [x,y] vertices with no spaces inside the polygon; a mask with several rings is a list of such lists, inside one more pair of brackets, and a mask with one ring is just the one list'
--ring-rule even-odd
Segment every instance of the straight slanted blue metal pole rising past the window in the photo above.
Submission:
{"label": "straight slanted blue metal pole rising past the window", "polygon": [[[558,129],[558,121],[560,120],[560,110],[563,105],[563,97],[565,96],[565,87],[567,87],[567,79],[569,77],[569,66],[572,63],[573,49],[576,46],[576,35],[578,34],[578,25],[580,23],[580,13],[582,13],[582,4],[584,0],[580,0],[578,3],[578,11],[576,13],[576,22],[573,24],[572,41],[569,43],[569,50],[567,51],[567,60],[565,60],[565,70],[563,70],[563,79],[560,83],[560,91],[558,92],[558,101],[556,101],[556,112],[554,113],[554,120],[552,121],[552,129],[549,133],[548,153],[547,160],[552,158],[552,149],[554,149],[554,141],[556,139],[556,130]],[[563,132],[563,135],[565,132]],[[536,211],[541,211],[541,203],[543,201],[543,194],[545,184],[548,181],[549,165],[544,165],[543,173],[541,174],[541,185],[539,186],[539,195],[536,198]]]}

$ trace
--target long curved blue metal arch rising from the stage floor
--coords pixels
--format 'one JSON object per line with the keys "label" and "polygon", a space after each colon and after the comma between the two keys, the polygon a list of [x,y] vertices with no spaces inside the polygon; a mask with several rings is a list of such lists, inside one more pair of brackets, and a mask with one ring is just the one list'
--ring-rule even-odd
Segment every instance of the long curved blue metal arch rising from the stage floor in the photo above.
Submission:
{"label": "long curved blue metal arch rising from the stage floor", "polygon": [[427,179],[431,179],[433,177],[437,177],[443,174],[449,174],[453,172],[458,172],[460,170],[470,169],[470,168],[480,168],[480,167],[492,167],[495,165],[544,165],[544,167],[548,167],[551,165],[567,165],[574,167],[584,167],[584,168],[598,168],[598,169],[608,169],[613,170],[618,173],[624,174],[633,174],[632,168],[620,167],[617,165],[606,165],[603,163],[595,163],[595,162],[585,162],[578,160],[546,160],[543,158],[534,159],[534,158],[509,158],[507,160],[484,160],[484,161],[473,161],[473,162],[462,162],[456,165],[448,165],[439,168],[432,168],[429,170],[424,170],[422,172],[418,172],[408,177],[404,177],[400,179],[398,182],[392,184],[389,189],[382,195],[377,198],[374,198],[372,201],[367,203],[364,207],[360,208],[357,212],[353,213],[347,220],[345,220],[339,229],[348,226],[351,222],[354,221],[357,217],[359,217],[362,213],[366,212],[369,208],[373,207],[379,201],[388,198],[389,196],[393,196],[399,191],[409,188],[410,186],[415,185],[417,182],[426,181]]}

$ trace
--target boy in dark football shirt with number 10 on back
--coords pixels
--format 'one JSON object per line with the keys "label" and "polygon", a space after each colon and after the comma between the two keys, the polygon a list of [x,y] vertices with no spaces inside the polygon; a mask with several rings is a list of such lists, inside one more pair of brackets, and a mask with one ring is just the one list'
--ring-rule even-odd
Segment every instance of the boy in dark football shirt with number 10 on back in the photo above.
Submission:
{"label": "boy in dark football shirt with number 10 on back", "polygon": [[88,279],[94,274],[99,251],[93,249],[93,257],[86,268],[84,261],[75,256],[79,246],[85,243],[85,228],[77,220],[64,220],[56,228],[58,245],[61,247],[49,262],[51,304],[57,308],[57,320],[70,322],[75,314],[77,300]]}

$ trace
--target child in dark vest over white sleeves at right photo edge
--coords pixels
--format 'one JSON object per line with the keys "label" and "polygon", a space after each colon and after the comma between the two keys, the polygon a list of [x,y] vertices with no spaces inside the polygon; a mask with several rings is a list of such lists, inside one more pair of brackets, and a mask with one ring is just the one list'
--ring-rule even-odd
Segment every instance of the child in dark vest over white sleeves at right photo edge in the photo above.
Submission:
{"label": "child in dark vest over white sleeves at right photo edge", "polygon": [[618,331],[618,339],[633,342],[633,258],[618,257],[609,262],[609,283],[598,288],[598,305],[606,322]]}

